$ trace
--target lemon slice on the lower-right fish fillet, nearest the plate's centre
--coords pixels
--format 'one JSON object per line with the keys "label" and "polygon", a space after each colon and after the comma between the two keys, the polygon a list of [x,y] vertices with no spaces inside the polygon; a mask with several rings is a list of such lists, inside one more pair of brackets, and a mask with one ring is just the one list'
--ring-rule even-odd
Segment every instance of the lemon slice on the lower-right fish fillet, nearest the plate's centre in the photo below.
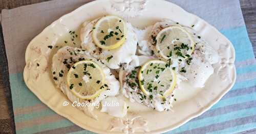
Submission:
{"label": "lemon slice on the lower-right fish fillet, nearest the plate's centre", "polygon": [[176,74],[169,63],[152,60],[145,63],[138,74],[142,92],[150,98],[160,94],[165,97],[172,93],[176,86]]}

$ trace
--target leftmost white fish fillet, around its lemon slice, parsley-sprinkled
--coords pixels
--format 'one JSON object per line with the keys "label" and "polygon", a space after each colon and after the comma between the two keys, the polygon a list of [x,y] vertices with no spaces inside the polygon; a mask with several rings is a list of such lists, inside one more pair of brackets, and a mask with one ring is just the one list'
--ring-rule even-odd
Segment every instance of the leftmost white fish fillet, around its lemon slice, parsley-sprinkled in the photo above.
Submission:
{"label": "leftmost white fish fillet, around its lemon slice, parsley-sprinkled", "polygon": [[[72,55],[71,55],[72,53]],[[67,60],[65,60],[67,59]],[[60,90],[67,95],[70,101],[74,102],[83,102],[84,100],[80,100],[78,97],[76,97],[72,92],[70,92],[69,87],[67,85],[66,76],[68,73],[68,70],[70,66],[72,66],[74,63],[78,62],[79,60],[93,60],[98,65],[102,67],[102,70],[105,74],[105,81],[106,84],[109,85],[110,90],[103,91],[99,97],[92,100],[92,103],[99,103],[103,98],[107,96],[115,96],[119,93],[119,82],[115,78],[115,76],[110,72],[110,69],[103,65],[99,60],[96,60],[95,58],[92,58],[88,55],[88,52],[79,49],[74,48],[70,46],[62,47],[58,50],[58,52],[53,56],[52,60],[52,72],[55,72],[53,74],[54,77],[57,78],[57,80],[54,80],[56,86],[60,88]],[[63,62],[66,61],[67,63],[64,64]],[[63,76],[59,76],[59,73]],[[79,110],[83,110],[85,114],[88,116],[97,119],[97,116],[93,113],[94,106],[86,106],[81,107],[77,106]]]}

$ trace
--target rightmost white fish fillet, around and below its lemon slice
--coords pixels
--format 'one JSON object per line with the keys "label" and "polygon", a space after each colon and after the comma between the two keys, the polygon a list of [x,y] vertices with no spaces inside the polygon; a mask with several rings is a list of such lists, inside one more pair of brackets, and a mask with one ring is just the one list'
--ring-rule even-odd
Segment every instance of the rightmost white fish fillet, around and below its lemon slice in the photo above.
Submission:
{"label": "rightmost white fish fillet, around and below its lemon slice", "polygon": [[[156,52],[157,50],[153,45],[154,42],[152,37],[156,37],[162,29],[172,25],[177,25],[177,23],[171,20],[157,22],[154,24],[152,31],[148,35],[148,47],[152,49],[156,54],[155,56],[160,59],[162,58]],[[176,70],[180,70],[184,67],[186,70],[185,73],[177,71],[178,84],[181,81],[187,81],[194,88],[202,88],[209,76],[214,73],[212,64],[220,61],[219,56],[217,51],[214,50],[214,48],[212,48],[206,41],[202,40],[202,38],[198,38],[198,35],[193,31],[193,29],[186,26],[183,26],[183,28],[192,35],[196,42],[195,51],[191,56],[193,60],[191,60],[190,65],[187,65],[185,61],[179,63],[177,60],[173,60],[171,67],[176,67]]]}

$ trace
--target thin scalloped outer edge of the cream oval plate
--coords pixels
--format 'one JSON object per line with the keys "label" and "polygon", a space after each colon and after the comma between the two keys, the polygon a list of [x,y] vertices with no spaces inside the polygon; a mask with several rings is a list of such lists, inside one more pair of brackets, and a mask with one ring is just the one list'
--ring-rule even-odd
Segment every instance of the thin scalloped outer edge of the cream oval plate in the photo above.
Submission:
{"label": "thin scalloped outer edge of the cream oval plate", "polygon": [[[27,60],[27,59],[28,59],[28,47],[31,46],[31,44],[32,44],[34,41],[36,41],[37,38],[40,38],[40,36],[41,36],[42,34],[44,34],[46,31],[48,31],[50,28],[52,28],[57,22],[61,21],[63,18],[66,18],[66,17],[68,17],[68,16],[74,14],[75,12],[78,12],[78,11],[81,10],[82,8],[86,8],[86,7],[88,7],[88,6],[91,6],[91,5],[96,4],[96,3],[101,3],[101,2],[103,2],[103,1],[104,1],[104,0],[96,0],[96,1],[92,1],[92,2],[89,2],[89,3],[87,3],[87,4],[84,4],[84,5],[80,6],[79,8],[73,10],[72,12],[61,16],[59,19],[55,20],[55,21],[52,22],[50,25],[48,25],[44,30],[42,30],[42,32],[39,33],[37,36],[35,36],[35,37],[30,41],[29,45],[27,46],[27,49],[26,49],[26,52],[25,52],[25,62],[26,62],[26,66],[27,66],[27,61],[28,61],[28,60]],[[162,1],[162,2],[165,2],[166,4],[173,4],[173,3],[171,3],[171,2],[167,2],[167,1],[164,1],[164,0],[161,0],[161,1]],[[198,16],[196,16],[196,15],[194,15],[194,14],[191,14],[191,13],[187,12],[186,10],[184,10],[183,8],[181,8],[180,6],[178,6],[178,5],[176,5],[176,4],[173,4],[173,6],[177,6],[177,7],[180,8],[180,10],[183,10],[185,13],[190,14],[190,15],[193,15],[194,17],[196,17],[196,18],[198,18],[198,19],[200,19],[200,20],[203,20],[202,18],[200,18],[200,17],[198,17]],[[210,26],[210,27],[212,28],[212,30],[215,30],[215,32],[218,32],[219,34],[221,34],[214,26],[212,26],[211,24],[209,24],[209,23],[206,22],[205,20],[203,20],[203,21],[204,21],[208,26]],[[230,45],[230,46],[231,46],[231,52],[232,52],[232,55],[235,56],[234,47],[233,47],[232,43],[231,43],[223,34],[221,34],[221,35],[222,35],[223,38],[225,38],[225,39],[229,42],[229,44],[231,44],[231,45]],[[208,106],[205,106],[205,107],[204,107],[205,109],[199,111],[198,113],[195,113],[194,115],[188,117],[186,120],[184,120],[184,121],[182,121],[182,122],[179,122],[177,125],[175,125],[175,126],[173,126],[173,127],[172,127],[172,126],[169,126],[169,127],[165,127],[165,128],[153,130],[153,131],[150,131],[150,132],[147,132],[147,133],[167,132],[167,131],[176,129],[176,128],[180,127],[181,125],[185,124],[186,122],[188,122],[189,120],[191,120],[191,119],[193,119],[193,118],[195,118],[195,117],[198,117],[198,116],[202,115],[204,112],[206,112],[207,110],[209,110],[209,109],[212,107],[212,105],[216,104],[216,103],[233,87],[234,83],[236,82],[237,73],[236,73],[236,67],[234,66],[234,61],[235,61],[235,58],[233,58],[233,61],[232,61],[232,65],[233,65],[233,67],[234,67],[234,76],[233,76],[233,77],[234,77],[234,78],[233,78],[234,81],[232,81],[232,83],[229,85],[229,87],[227,87],[225,90],[223,90],[223,92],[219,95],[218,98],[216,98],[215,101],[211,101],[211,103],[209,103]],[[24,77],[26,77],[26,75],[27,75],[27,74],[25,73],[25,72],[26,72],[26,66],[25,66],[25,68],[24,68],[24,73],[23,73],[23,74],[24,74]],[[25,83],[26,83],[26,81],[25,81]],[[26,85],[28,85],[28,84],[26,83]],[[28,87],[28,88],[29,88],[29,87]],[[36,89],[31,89],[31,88],[29,88],[29,89],[37,96],[37,98],[39,98],[40,101],[42,101],[44,104],[46,104],[46,105],[47,105],[49,108],[51,108],[54,112],[56,112],[57,114],[59,114],[59,115],[65,117],[65,118],[69,119],[70,121],[74,122],[76,125],[78,125],[78,126],[84,128],[83,125],[80,124],[79,121],[76,121],[72,116],[62,114],[61,112],[55,110],[54,107],[49,106],[48,103],[47,103],[47,101],[46,101],[45,99],[42,99],[42,98],[40,97],[40,95],[39,95],[39,93],[36,91]],[[106,131],[104,131],[104,130],[99,130],[99,129],[93,128],[93,127],[91,127],[91,126],[87,126],[87,127],[86,127],[86,130],[90,130],[90,131],[98,132],[98,133],[104,133],[104,132],[106,132]],[[113,132],[113,131],[109,131],[109,132],[110,132],[110,133],[119,133],[119,132]],[[140,133],[140,132],[139,132],[139,133]]]}

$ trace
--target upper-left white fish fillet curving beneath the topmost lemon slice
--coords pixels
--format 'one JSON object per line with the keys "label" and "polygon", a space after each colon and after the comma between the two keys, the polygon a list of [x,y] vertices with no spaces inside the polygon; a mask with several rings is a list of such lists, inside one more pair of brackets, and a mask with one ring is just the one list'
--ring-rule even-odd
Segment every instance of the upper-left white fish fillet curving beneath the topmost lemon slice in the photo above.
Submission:
{"label": "upper-left white fish fillet curving beneath the topmost lemon slice", "polygon": [[[122,63],[130,63],[132,61],[132,56],[135,56],[138,42],[131,23],[126,22],[127,36],[124,44],[116,49],[104,50],[95,45],[92,37],[93,26],[97,21],[98,19],[95,19],[89,23],[83,23],[80,35],[81,47],[86,49],[92,57],[100,59],[111,69],[120,68],[120,64]],[[108,62],[106,58],[111,56],[113,56],[113,58]]]}

